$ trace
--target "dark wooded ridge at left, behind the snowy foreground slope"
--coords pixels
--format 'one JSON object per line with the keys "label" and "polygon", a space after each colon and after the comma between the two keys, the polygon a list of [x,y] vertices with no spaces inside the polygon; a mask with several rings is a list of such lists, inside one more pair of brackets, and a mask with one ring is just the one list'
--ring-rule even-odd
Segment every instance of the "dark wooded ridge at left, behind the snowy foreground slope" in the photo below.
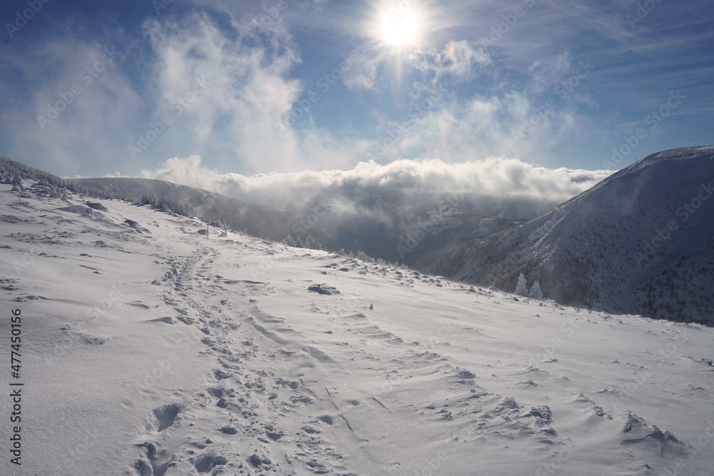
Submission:
{"label": "dark wooded ridge at left, behind the snowy foreground slope", "polygon": [[218,193],[146,178],[59,178],[0,156],[0,181],[6,183],[35,180],[57,189],[83,193],[96,198],[114,198],[140,202],[153,196],[170,211],[193,215],[205,221],[221,221],[234,230],[245,231],[258,238],[281,241],[288,235],[306,240],[312,236],[326,250],[338,250],[337,243],[326,233],[289,213],[253,203],[238,201]]}

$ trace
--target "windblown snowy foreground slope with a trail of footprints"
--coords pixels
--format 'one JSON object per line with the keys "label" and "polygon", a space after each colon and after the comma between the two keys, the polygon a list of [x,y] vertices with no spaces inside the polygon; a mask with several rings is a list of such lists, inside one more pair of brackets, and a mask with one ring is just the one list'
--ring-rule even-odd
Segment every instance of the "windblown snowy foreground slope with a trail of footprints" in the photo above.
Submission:
{"label": "windblown snowy foreground slope with a trail of footprints", "polygon": [[712,328],[36,191],[0,186],[3,475],[714,475]]}

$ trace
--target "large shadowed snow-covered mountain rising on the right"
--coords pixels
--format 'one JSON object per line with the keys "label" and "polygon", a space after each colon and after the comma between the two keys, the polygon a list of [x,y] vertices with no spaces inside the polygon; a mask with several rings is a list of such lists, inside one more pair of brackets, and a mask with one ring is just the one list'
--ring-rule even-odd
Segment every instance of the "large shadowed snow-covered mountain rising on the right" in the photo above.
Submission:
{"label": "large shadowed snow-covered mountain rising on the right", "polygon": [[555,211],[428,268],[614,313],[714,323],[714,146],[655,153]]}

